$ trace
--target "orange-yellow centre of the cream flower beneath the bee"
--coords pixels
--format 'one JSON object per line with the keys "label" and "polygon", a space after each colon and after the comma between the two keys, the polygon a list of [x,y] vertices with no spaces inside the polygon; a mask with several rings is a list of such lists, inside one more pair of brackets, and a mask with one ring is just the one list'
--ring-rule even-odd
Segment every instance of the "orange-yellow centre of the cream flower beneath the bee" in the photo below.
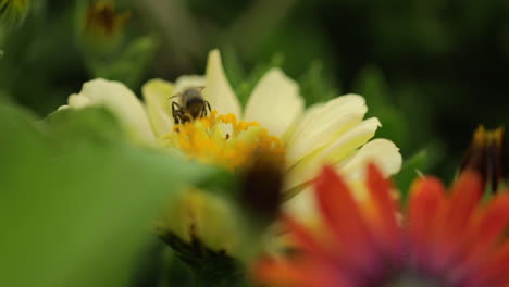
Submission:
{"label": "orange-yellow centre of the cream flower beneath the bee", "polygon": [[284,161],[284,148],[277,137],[256,122],[237,121],[234,114],[209,116],[175,125],[162,138],[162,145],[175,147],[202,163],[228,170],[245,167],[258,153]]}

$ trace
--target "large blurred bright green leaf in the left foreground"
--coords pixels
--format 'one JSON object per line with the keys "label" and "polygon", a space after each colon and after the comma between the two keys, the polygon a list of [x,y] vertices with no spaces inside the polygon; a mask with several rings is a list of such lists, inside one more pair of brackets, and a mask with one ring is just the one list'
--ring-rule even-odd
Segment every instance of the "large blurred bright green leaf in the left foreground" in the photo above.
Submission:
{"label": "large blurred bright green leaf in the left foreground", "polygon": [[129,286],[172,191],[212,171],[124,140],[103,109],[0,104],[0,286]]}

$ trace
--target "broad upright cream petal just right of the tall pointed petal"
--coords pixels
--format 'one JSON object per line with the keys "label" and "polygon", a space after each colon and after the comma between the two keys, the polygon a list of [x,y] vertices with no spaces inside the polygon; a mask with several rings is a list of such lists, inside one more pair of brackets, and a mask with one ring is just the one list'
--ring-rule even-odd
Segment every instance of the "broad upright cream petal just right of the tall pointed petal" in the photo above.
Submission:
{"label": "broad upright cream petal just right of the tall pointed petal", "polygon": [[282,137],[301,116],[303,105],[297,83],[280,68],[272,68],[260,79],[249,97],[244,120],[258,122],[271,135]]}

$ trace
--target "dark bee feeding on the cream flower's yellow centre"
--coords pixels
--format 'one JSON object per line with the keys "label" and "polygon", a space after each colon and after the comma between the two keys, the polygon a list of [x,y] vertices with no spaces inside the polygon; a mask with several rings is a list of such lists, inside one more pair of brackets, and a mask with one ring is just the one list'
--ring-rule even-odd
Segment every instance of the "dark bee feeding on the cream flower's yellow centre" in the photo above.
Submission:
{"label": "dark bee feeding on the cream flower's yellow centre", "polygon": [[179,98],[179,103],[172,102],[172,115],[175,125],[207,116],[210,113],[210,103],[203,99],[202,90],[203,87],[186,88],[172,97]]}

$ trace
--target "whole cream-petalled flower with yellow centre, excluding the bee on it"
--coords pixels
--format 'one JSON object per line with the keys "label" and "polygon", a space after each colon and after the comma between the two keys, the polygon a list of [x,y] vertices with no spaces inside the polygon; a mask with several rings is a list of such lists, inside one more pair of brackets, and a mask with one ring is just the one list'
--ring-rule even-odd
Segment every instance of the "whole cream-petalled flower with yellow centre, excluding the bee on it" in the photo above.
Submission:
{"label": "whole cream-petalled flower with yellow centre, excluding the bee on it", "polygon": [[[175,127],[170,98],[188,87],[204,87],[203,97],[214,112]],[[175,83],[152,79],[142,93],[145,104],[122,84],[95,79],[72,95],[69,105],[105,104],[134,139],[234,170],[243,167],[257,147],[281,154],[287,198],[283,209],[302,221],[313,222],[318,214],[308,186],[323,164],[334,166],[351,184],[363,182],[368,162],[376,163],[385,176],[401,166],[392,141],[370,141],[381,124],[374,117],[363,120],[368,108],[361,96],[346,95],[305,109],[297,83],[272,68],[243,111],[218,50],[209,53],[204,76],[182,76]]]}

